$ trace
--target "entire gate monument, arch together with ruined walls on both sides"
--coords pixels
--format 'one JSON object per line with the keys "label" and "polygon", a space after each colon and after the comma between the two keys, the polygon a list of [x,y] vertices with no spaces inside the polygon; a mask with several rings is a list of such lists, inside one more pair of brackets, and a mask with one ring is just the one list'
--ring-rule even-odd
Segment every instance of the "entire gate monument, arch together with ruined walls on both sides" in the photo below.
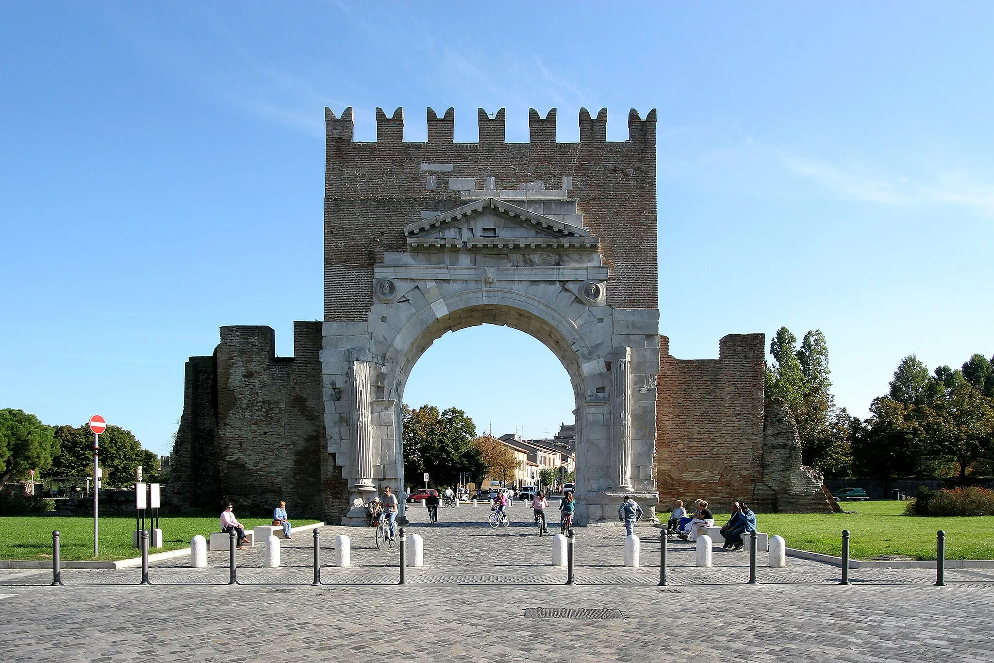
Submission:
{"label": "entire gate monument, arch together with ruined walls on both sides", "polygon": [[452,109],[429,108],[411,142],[403,111],[378,109],[377,139],[359,142],[351,109],[325,109],[324,319],[294,323],[293,357],[269,327],[230,326],[190,358],[172,502],[283,499],[364,523],[374,491],[405,488],[414,363],[446,331],[491,323],[570,375],[580,524],[614,521],[628,494],[648,514],[660,495],[831,510],[792,416],[764,402],[762,334],[682,360],[659,333],[656,112],[630,111],[624,141],[606,140],[606,109],[580,109],[574,143],[557,141],[555,109],[530,112],[527,143],[505,140],[503,109],[478,120],[479,140],[456,143]]}

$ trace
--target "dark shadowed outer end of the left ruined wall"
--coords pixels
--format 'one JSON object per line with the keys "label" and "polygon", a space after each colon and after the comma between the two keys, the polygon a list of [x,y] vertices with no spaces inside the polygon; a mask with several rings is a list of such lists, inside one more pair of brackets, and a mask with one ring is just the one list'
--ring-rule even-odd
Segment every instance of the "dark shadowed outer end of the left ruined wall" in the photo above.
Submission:
{"label": "dark shadowed outer end of the left ruined wall", "polygon": [[164,502],[180,511],[221,501],[217,459],[217,376],[214,357],[191,357],[183,381],[183,415],[170,453]]}

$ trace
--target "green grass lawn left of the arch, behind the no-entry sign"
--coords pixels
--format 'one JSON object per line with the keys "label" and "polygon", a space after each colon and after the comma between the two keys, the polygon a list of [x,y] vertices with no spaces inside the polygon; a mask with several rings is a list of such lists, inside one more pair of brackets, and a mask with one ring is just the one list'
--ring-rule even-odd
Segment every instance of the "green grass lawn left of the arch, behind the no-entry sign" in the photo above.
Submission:
{"label": "green grass lawn left of the arch, behind the no-entry sign", "polygon": [[[256,525],[268,525],[268,518],[240,518],[249,530]],[[315,520],[292,520],[294,525],[309,525]],[[148,521],[145,521],[148,527]],[[190,539],[200,534],[207,537],[220,532],[218,518],[188,518],[166,516],[159,519],[162,529],[162,548],[149,549],[149,553],[188,548]],[[93,517],[89,516],[0,516],[0,560],[51,560],[52,531],[59,530],[63,560],[117,561],[139,557],[138,549],[131,548],[134,532],[133,516],[100,516],[99,557],[93,555]]]}

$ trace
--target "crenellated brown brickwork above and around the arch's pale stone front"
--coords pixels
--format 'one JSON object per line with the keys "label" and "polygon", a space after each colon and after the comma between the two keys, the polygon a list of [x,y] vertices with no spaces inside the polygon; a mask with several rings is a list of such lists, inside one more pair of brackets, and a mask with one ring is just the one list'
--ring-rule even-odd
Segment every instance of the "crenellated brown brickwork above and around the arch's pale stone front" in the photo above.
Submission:
{"label": "crenellated brown brickwork above and around the arch's pale stone front", "polygon": [[500,190],[533,181],[560,189],[572,177],[570,196],[611,267],[607,303],[657,308],[656,111],[644,120],[630,112],[624,142],[605,141],[606,109],[596,118],[580,111],[579,143],[556,142],[556,109],[546,118],[531,111],[528,143],[504,141],[503,109],[479,116],[480,141],[453,143],[454,113],[439,118],[429,108],[428,140],[412,143],[403,140],[402,109],[392,117],[377,109],[377,141],[355,142],[352,109],[340,118],[325,109],[325,319],[366,320],[373,265],[384,251],[407,249],[403,227],[421,211],[464,203],[449,178],[473,178],[483,189],[493,177]]}

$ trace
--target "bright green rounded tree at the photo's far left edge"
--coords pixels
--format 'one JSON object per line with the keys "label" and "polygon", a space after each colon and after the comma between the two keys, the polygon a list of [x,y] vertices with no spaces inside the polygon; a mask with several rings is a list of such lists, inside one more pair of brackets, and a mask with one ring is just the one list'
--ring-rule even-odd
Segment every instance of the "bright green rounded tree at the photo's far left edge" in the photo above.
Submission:
{"label": "bright green rounded tree at the photo's far left edge", "polygon": [[47,470],[58,453],[51,426],[23,410],[0,410],[0,489],[9,480],[27,479],[31,470]]}

